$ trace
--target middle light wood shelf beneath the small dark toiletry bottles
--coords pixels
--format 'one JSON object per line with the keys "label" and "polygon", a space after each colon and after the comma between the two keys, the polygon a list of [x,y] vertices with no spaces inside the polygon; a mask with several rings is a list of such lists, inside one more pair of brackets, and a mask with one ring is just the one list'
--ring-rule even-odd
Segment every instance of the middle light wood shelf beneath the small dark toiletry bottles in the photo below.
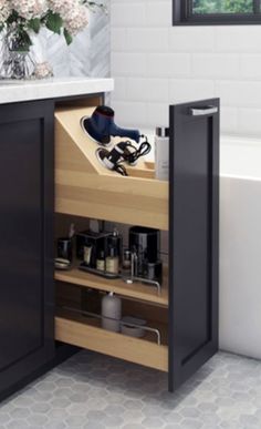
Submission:
{"label": "middle light wood shelf beneath the small dark toiletry bottles", "polygon": [[134,299],[157,304],[163,307],[168,307],[168,282],[164,279],[161,293],[159,294],[156,287],[145,285],[143,283],[134,283],[127,285],[121,278],[106,279],[77,268],[69,272],[55,272],[55,279],[60,282],[71,283],[74,285],[91,287],[93,289],[114,292],[115,294],[126,296]]}

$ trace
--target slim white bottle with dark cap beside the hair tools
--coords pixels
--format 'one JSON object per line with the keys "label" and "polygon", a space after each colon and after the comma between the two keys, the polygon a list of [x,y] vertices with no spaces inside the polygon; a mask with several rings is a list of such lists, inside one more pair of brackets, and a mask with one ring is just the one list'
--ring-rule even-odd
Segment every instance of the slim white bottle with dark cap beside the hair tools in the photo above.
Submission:
{"label": "slim white bottle with dark cap beside the hair tools", "polygon": [[155,135],[155,172],[159,181],[169,178],[169,129],[157,126]]}

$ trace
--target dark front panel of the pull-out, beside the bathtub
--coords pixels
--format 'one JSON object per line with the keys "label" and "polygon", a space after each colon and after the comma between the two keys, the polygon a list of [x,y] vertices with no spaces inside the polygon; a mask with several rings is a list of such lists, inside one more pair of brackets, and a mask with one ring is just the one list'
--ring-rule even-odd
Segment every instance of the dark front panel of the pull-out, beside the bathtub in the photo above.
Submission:
{"label": "dark front panel of the pull-out, beside the bathtub", "polygon": [[[191,115],[211,105],[217,113]],[[202,112],[203,113],[203,112]],[[218,338],[219,101],[170,108],[169,387],[216,350]]]}

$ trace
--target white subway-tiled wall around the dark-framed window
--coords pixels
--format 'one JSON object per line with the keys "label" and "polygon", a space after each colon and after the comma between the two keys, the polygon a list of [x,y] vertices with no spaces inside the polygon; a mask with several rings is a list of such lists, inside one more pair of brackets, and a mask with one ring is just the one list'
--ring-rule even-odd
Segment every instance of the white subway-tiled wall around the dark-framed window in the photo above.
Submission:
{"label": "white subway-tiled wall around the dark-framed window", "polygon": [[261,135],[261,25],[171,27],[171,0],[111,0],[121,122],[155,126],[168,104],[221,98],[221,131]]}

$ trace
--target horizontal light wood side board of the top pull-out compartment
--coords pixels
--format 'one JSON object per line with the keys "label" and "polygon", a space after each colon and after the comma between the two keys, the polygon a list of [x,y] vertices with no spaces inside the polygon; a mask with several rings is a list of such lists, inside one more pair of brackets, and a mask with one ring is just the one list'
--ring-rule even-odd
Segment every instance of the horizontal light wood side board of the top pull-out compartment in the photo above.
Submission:
{"label": "horizontal light wood side board of the top pull-out compartment", "polygon": [[56,171],[55,211],[168,229],[168,185],[135,177]]}

